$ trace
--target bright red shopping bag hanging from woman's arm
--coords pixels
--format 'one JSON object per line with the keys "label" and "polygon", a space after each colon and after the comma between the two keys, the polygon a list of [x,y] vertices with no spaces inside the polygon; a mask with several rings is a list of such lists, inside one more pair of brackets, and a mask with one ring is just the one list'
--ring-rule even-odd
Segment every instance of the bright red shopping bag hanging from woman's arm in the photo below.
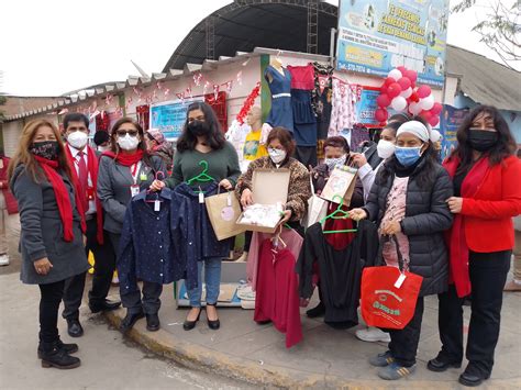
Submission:
{"label": "bright red shopping bag hanging from woman's arm", "polygon": [[[398,243],[393,237],[396,247]],[[398,250],[399,266],[403,259]],[[367,267],[362,272],[362,316],[369,326],[402,330],[414,315],[423,278],[397,267]]]}

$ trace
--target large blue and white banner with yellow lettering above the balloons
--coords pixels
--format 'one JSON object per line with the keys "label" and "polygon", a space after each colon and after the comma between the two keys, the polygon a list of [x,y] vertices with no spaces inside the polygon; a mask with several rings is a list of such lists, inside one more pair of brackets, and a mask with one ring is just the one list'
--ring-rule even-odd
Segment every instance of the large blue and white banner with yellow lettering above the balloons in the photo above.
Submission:
{"label": "large blue and white banner with yellow lettering above the balloons", "polygon": [[341,0],[336,67],[385,77],[404,66],[442,87],[448,0]]}

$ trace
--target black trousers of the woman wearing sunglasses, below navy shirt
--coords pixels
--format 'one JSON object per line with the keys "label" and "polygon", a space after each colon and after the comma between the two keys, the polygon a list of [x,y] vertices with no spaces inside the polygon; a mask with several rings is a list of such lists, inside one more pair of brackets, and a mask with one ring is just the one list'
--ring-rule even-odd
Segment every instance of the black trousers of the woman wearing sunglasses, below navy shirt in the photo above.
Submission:
{"label": "black trousers of the woman wearing sunglasses, below navy shirt", "polygon": [[[109,233],[110,241],[115,252],[120,246],[121,234]],[[123,307],[128,309],[129,313],[135,314],[144,311],[146,314],[156,314],[160,308],[160,294],[163,292],[163,285],[143,281],[143,299],[140,289],[126,291],[125,286],[120,285],[120,296]]]}

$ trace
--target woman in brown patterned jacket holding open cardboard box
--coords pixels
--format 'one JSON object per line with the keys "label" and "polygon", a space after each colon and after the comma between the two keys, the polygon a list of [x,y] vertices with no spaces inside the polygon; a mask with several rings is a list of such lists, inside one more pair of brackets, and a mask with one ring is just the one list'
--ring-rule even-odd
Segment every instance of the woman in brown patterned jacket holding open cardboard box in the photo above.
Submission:
{"label": "woman in brown patterned jacket holding open cardboard box", "polygon": [[266,145],[269,156],[257,158],[250,164],[247,171],[239,178],[235,193],[241,200],[243,208],[252,205],[252,178],[255,169],[289,169],[288,200],[284,207],[280,224],[289,222],[290,225],[298,225],[298,222],[306,214],[308,199],[311,197],[309,171],[301,163],[290,157],[295,152],[295,141],[286,129],[274,127],[269,132]]}

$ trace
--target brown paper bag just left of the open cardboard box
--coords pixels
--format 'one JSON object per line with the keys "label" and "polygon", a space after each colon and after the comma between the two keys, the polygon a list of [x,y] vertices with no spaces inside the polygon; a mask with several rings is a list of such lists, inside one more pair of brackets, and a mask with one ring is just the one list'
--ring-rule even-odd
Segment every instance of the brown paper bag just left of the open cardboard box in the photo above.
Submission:
{"label": "brown paper bag just left of the open cardboard box", "polygon": [[241,205],[232,191],[204,198],[204,203],[213,232],[219,241],[246,231],[235,223],[241,214]]}

